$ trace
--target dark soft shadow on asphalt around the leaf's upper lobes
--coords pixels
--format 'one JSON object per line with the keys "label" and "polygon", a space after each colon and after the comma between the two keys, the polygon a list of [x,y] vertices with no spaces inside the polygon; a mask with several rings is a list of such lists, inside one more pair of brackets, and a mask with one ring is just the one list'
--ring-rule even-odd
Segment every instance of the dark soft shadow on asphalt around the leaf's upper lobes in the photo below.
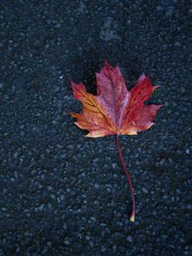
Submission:
{"label": "dark soft shadow on asphalt around the leaf's upper lobes", "polygon": [[128,90],[136,84],[138,77],[142,74],[137,56],[125,55],[122,58],[122,55],[113,54],[113,50],[100,52],[100,49],[90,46],[82,55],[76,56],[71,80],[77,84],[82,82],[86,90],[96,95],[96,73],[101,71],[105,59],[113,67],[119,65]]}

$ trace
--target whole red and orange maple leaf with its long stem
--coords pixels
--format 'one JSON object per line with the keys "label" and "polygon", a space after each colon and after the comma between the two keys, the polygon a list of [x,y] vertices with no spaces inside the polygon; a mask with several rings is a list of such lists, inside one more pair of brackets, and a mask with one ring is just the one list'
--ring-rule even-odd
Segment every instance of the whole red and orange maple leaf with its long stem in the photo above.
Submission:
{"label": "whole red and orange maple leaf with its long stem", "polygon": [[131,185],[131,177],[126,170],[123,156],[119,148],[119,135],[137,135],[154,125],[154,117],[163,105],[145,105],[150,95],[159,85],[153,86],[144,74],[129,91],[119,67],[111,67],[108,61],[101,73],[96,73],[97,95],[86,91],[84,84],[72,82],[73,96],[83,104],[82,113],[70,113],[78,121],[79,128],[90,131],[86,137],[105,137],[116,135],[116,143],[120,160],[131,186],[133,212],[131,221],[135,219],[135,198]]}

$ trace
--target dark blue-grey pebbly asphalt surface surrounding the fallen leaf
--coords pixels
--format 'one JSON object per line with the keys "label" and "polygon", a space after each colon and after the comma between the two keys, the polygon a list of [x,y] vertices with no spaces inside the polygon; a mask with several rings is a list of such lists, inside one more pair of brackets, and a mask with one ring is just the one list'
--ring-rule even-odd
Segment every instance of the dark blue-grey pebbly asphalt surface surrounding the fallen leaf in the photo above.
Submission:
{"label": "dark blue-grey pebbly asphalt surface surrounding the fallen leaf", "polygon": [[[0,255],[192,255],[189,1],[1,1]],[[156,125],[86,138],[69,84],[105,58],[160,84]]]}

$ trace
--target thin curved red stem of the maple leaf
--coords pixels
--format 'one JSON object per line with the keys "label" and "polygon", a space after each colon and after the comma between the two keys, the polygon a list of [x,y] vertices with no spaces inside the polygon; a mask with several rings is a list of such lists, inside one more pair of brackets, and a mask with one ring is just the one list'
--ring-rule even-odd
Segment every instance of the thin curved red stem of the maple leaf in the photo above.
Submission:
{"label": "thin curved red stem of the maple leaf", "polygon": [[133,189],[133,186],[132,186],[132,183],[131,183],[131,176],[130,176],[129,172],[126,169],[126,166],[125,166],[125,163],[124,163],[124,159],[123,159],[123,155],[122,155],[122,152],[120,150],[118,135],[116,135],[116,144],[117,144],[117,148],[118,148],[118,151],[119,151],[119,157],[120,157],[120,160],[121,160],[121,164],[124,167],[124,171],[125,171],[125,174],[126,174],[126,177],[128,179],[128,182],[129,182],[129,185],[130,185],[130,189],[131,189],[132,213],[131,213],[130,220],[132,222],[134,222],[135,221],[135,216],[136,216],[136,202],[135,202],[134,189]]}

